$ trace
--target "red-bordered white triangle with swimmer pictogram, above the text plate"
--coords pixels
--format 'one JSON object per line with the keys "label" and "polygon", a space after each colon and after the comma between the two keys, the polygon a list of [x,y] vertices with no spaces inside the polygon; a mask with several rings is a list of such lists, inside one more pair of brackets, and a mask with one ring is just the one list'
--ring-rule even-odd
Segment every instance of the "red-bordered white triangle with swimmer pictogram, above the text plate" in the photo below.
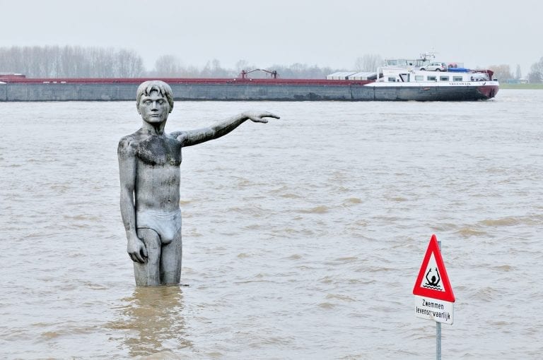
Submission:
{"label": "red-bordered white triangle with swimmer pictogram, above the text plate", "polygon": [[416,277],[413,294],[455,302],[455,294],[452,294],[452,287],[450,286],[447,270],[445,270],[443,258],[441,258],[436,235],[432,235],[426,254],[424,254],[419,276]]}

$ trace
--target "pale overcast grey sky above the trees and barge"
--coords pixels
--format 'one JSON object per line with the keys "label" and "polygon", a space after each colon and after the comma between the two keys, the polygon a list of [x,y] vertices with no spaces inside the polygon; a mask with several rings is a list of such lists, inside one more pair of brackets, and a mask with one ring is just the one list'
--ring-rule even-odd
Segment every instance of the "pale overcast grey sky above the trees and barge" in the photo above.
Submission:
{"label": "pale overcast grey sky above the trees and barge", "polygon": [[540,0],[0,0],[0,13],[0,47],[127,48],[148,70],[164,54],[194,66],[352,69],[363,54],[433,50],[469,67],[509,64],[514,73],[520,64],[526,76],[543,56]]}

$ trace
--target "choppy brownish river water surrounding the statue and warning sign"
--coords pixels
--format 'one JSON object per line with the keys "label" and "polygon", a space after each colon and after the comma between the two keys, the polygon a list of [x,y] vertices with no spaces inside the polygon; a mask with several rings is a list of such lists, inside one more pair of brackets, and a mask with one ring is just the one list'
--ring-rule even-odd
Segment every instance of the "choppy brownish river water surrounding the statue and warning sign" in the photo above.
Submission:
{"label": "choppy brownish river water surrounding the statue and warning sign", "polygon": [[411,294],[432,234],[444,359],[541,359],[543,91],[486,102],[177,102],[182,287],[136,289],[117,142],[134,102],[1,103],[0,356],[432,359]]}

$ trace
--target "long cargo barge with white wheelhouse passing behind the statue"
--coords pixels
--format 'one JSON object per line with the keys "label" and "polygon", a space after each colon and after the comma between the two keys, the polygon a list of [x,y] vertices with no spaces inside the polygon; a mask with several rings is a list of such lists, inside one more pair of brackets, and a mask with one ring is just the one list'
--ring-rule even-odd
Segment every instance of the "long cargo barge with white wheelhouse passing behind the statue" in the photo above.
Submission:
{"label": "long cargo barge with white wheelhouse passing behind the statue", "polygon": [[366,80],[345,78],[25,78],[0,76],[0,102],[134,100],[146,80],[163,80],[175,100],[472,101],[496,96],[491,71],[438,72],[385,66]]}

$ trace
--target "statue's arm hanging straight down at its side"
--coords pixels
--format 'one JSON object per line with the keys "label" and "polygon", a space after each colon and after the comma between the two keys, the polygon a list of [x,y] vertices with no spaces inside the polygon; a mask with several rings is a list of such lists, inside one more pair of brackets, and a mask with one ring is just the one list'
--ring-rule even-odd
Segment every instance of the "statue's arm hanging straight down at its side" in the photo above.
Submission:
{"label": "statue's arm hanging straight down at its side", "polygon": [[119,158],[119,179],[121,182],[121,217],[127,232],[127,251],[130,258],[144,263],[147,251],[144,242],[136,232],[136,208],[134,206],[134,187],[136,184],[136,154],[129,138],[122,138],[117,148]]}

